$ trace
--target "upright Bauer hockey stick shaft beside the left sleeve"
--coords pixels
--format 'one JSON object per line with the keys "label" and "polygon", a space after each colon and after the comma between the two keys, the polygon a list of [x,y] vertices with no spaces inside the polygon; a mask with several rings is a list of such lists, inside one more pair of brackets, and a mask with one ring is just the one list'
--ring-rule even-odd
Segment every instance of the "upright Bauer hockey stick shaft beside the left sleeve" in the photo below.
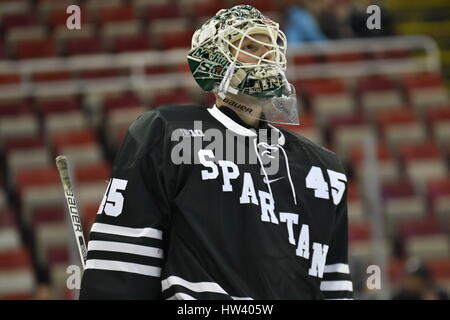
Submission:
{"label": "upright Bauer hockey stick shaft beside the left sleeve", "polygon": [[66,156],[56,157],[56,166],[58,167],[59,176],[61,177],[61,183],[64,188],[64,195],[66,196],[66,203],[69,209],[70,221],[72,223],[73,232],[77,240],[78,252],[80,254],[81,265],[83,270],[86,266],[86,242],[84,241],[83,229],[81,227],[81,220],[78,214],[77,203],[75,201],[75,195],[72,190],[72,182],[69,175],[69,165],[67,163]]}

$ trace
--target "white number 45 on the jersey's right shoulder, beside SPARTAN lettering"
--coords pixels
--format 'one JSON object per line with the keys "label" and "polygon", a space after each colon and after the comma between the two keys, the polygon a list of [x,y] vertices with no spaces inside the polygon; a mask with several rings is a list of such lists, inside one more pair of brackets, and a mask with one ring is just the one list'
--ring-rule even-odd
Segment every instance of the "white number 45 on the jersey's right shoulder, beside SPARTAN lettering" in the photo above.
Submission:
{"label": "white number 45 on the jersey's right shoulder, beside SPARTAN lettering", "polygon": [[[327,170],[327,172],[330,178],[333,203],[337,205],[344,195],[345,183],[343,181],[347,181],[347,177],[345,174],[333,170]],[[330,199],[328,184],[323,177],[322,169],[319,167],[313,166],[309,170],[306,176],[306,187],[314,189],[314,196],[316,198]]]}

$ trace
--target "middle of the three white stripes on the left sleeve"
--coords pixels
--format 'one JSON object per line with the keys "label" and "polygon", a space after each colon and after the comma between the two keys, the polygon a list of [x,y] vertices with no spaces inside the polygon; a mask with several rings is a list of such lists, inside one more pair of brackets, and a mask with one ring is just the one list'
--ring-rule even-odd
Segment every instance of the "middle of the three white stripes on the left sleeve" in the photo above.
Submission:
{"label": "middle of the three white stripes on the left sleeve", "polygon": [[88,251],[93,250],[123,252],[146,257],[163,258],[162,249],[123,242],[91,240],[88,244]]}

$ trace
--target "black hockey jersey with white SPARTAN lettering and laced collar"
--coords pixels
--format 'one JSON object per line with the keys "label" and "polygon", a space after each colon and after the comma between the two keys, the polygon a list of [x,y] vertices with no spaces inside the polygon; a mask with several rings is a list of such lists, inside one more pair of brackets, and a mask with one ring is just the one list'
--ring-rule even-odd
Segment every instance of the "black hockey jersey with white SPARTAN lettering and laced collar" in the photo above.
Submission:
{"label": "black hockey jersey with white SPARTAN lettering and laced collar", "polygon": [[336,155],[284,128],[147,111],[116,157],[80,298],[352,298],[346,194]]}

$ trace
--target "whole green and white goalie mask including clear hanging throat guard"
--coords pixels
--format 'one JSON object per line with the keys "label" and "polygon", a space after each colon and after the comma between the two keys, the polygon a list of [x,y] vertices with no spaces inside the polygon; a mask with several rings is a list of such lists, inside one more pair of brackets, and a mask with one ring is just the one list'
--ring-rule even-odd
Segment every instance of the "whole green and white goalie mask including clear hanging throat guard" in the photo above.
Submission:
{"label": "whole green and white goalie mask including clear hanging throat guard", "polygon": [[[266,36],[267,41],[256,35]],[[247,39],[267,51],[261,56],[244,51],[241,46]],[[187,58],[204,91],[260,107],[261,120],[298,124],[295,89],[285,76],[285,54],[286,37],[278,23],[252,6],[239,5],[220,10],[194,33]],[[252,62],[241,62],[239,56],[251,57]]]}

